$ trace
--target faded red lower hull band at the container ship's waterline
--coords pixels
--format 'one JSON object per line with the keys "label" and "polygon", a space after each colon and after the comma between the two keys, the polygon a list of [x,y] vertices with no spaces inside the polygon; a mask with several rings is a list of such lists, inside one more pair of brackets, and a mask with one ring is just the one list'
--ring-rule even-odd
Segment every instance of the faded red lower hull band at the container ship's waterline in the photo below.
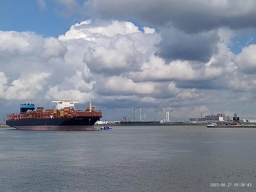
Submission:
{"label": "faded red lower hull band at the container ship's waterline", "polygon": [[72,130],[97,130],[94,125],[74,125],[74,126],[14,126],[18,130],[38,130],[38,131],[72,131]]}

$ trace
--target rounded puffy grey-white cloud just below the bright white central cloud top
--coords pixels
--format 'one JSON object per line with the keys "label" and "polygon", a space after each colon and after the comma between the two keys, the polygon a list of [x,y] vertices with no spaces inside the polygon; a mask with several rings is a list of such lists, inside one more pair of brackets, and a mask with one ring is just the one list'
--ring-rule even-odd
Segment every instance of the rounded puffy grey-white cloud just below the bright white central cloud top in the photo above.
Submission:
{"label": "rounded puffy grey-white cloud just below the bright white central cloud top", "polygon": [[117,35],[108,47],[88,48],[83,61],[92,72],[109,74],[112,71],[120,74],[123,71],[139,70],[142,56],[129,36]]}

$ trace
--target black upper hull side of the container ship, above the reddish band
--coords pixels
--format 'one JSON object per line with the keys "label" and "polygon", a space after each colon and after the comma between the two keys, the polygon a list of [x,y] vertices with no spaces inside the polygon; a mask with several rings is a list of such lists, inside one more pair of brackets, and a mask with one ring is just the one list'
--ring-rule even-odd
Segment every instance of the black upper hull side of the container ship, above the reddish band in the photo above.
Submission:
{"label": "black upper hull side of the container ship, above the reddish band", "polygon": [[11,127],[22,127],[22,126],[93,126],[96,121],[100,120],[101,117],[86,116],[86,117],[73,117],[73,118],[45,118],[45,119],[22,119],[22,120],[11,120],[6,121],[6,125]]}

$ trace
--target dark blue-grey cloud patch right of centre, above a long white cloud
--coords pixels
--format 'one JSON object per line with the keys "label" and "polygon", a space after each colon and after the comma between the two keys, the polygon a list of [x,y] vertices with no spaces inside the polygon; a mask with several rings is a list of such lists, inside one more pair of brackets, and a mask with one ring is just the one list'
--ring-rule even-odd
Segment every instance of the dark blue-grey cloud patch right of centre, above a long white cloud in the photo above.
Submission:
{"label": "dark blue-grey cloud patch right of centre, above a long white cloud", "polygon": [[167,62],[173,60],[190,60],[208,62],[211,56],[218,51],[218,31],[208,33],[185,34],[182,31],[165,28],[162,40],[157,45],[156,55]]}

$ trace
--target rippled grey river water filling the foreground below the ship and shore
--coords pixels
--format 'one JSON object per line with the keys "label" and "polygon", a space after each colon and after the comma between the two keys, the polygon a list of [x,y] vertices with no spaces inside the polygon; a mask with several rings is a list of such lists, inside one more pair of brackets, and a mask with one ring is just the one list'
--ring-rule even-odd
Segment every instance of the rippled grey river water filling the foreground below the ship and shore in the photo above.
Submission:
{"label": "rippled grey river water filling the foreground below the ship and shore", "polygon": [[0,129],[0,191],[256,191],[256,129],[113,128]]}

